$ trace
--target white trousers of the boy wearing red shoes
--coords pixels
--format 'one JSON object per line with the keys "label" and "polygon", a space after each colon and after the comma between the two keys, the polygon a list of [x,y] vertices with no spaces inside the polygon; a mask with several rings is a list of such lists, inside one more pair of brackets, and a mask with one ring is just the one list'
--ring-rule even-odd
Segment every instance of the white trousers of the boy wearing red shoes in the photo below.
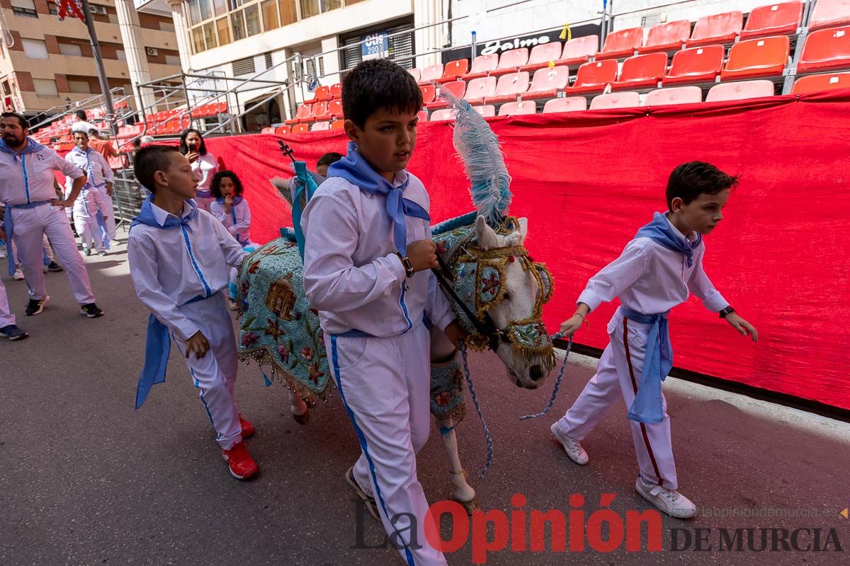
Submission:
{"label": "white trousers of the boy wearing red shoes", "polygon": [[233,395],[239,359],[224,293],[183,305],[180,312],[201,329],[210,343],[206,356],[198,360],[190,353],[186,359],[185,341],[172,333],[174,343],[189,366],[192,383],[200,389],[201,403],[216,432],[216,441],[224,450],[230,450],[242,440],[242,427]]}

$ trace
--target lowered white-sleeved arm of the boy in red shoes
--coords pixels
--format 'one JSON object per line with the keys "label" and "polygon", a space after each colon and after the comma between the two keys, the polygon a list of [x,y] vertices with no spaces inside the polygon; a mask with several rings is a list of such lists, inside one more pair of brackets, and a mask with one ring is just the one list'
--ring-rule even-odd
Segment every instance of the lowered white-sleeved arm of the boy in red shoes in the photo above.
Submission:
{"label": "lowered white-sleeved arm of the boy in red shoes", "polygon": [[145,306],[160,322],[171,328],[184,340],[200,330],[183,316],[174,301],[165,294],[156,278],[156,249],[145,238],[130,238],[127,243],[127,260],[130,261],[130,276],[133,286]]}

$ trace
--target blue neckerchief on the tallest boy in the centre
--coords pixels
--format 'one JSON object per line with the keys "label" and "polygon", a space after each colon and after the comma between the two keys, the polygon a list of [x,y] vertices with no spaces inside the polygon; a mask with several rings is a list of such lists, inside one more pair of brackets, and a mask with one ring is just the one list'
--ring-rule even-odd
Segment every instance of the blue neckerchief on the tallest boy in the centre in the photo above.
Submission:
{"label": "blue neckerchief on the tallest boy in the centre", "polygon": [[393,221],[393,243],[401,255],[407,252],[407,227],[405,216],[413,216],[430,221],[428,212],[415,202],[402,197],[410,177],[399,187],[381,177],[363,156],[357,152],[357,145],[348,142],[348,154],[327,169],[327,177],[343,177],[346,181],[372,194],[387,197],[387,216]]}

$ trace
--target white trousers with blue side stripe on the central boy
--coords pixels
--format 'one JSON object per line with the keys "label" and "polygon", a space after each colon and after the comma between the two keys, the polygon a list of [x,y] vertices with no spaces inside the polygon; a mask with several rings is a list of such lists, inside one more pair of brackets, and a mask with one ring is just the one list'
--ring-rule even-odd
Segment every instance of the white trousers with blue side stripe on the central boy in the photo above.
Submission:
{"label": "white trousers with blue side stripe on the central boy", "polygon": [[[425,539],[428,501],[416,478],[416,452],[430,432],[429,343],[422,323],[391,338],[326,333],[331,371],[360,440],[354,479],[375,497],[384,530],[404,544],[399,552],[411,566],[445,564]],[[416,544],[410,515],[416,517]]]}

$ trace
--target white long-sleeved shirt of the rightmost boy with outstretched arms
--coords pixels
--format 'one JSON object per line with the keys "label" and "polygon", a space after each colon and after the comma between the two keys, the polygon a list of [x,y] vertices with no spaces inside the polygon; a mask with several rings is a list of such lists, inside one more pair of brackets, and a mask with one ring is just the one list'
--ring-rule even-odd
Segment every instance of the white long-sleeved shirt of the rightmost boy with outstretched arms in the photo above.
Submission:
{"label": "white long-sleeved shirt of the rightmost boy with outstretched arms", "polygon": [[[673,230],[684,241],[685,236],[676,227]],[[691,242],[696,238],[696,233],[688,236]],[[635,238],[626,244],[620,257],[591,277],[576,302],[595,311],[601,303],[620,297],[626,308],[654,315],[681,305],[693,292],[709,311],[721,311],[729,304],[703,270],[705,253],[705,244],[694,249],[689,267],[681,252],[666,249],[649,238]]]}

